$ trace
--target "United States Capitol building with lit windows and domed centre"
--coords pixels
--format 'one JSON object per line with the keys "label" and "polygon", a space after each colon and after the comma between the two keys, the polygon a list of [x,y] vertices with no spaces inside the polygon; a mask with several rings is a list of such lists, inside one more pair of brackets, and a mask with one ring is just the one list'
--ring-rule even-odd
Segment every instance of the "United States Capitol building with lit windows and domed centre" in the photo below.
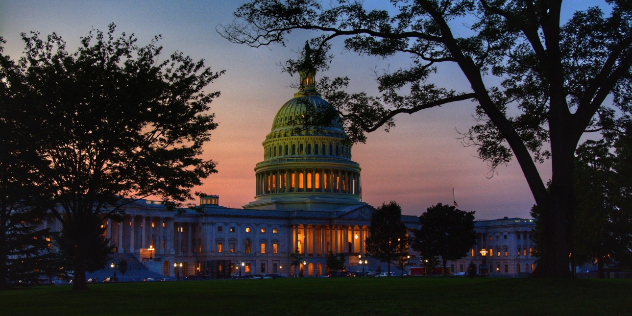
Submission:
{"label": "United States Capitol building with lit windows and domed centre", "polygon": [[[254,200],[242,209],[221,206],[217,195],[200,198],[198,210],[167,210],[161,201],[138,200],[123,221],[104,222],[116,255],[127,254],[166,277],[237,274],[298,274],[292,254],[300,253],[305,276],[326,274],[329,252],[344,254],[348,271],[382,270],[365,248],[374,207],[360,198],[360,165],[338,118],[328,127],[299,129],[298,118],[328,107],[313,85],[315,73],[301,73],[301,88],[272,121],[265,137],[264,160],[255,166]],[[413,236],[416,216],[402,216]],[[531,272],[532,220],[477,221],[478,245],[449,262],[452,272],[480,265],[485,248],[490,275]],[[407,267],[421,266],[410,249]],[[366,259],[367,265],[360,264]],[[391,269],[396,270],[394,262]]]}

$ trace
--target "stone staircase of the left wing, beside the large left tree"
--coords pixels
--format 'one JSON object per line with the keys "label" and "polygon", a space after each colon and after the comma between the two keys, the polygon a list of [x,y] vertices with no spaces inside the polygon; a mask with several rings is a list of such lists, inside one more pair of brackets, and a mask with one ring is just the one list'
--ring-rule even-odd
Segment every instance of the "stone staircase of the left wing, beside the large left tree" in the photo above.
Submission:
{"label": "stone staircase of the left wing, beside the large left tree", "polygon": [[122,259],[127,261],[127,270],[125,271],[125,275],[121,274],[121,271],[116,270],[116,277],[118,277],[120,282],[135,282],[142,281],[147,277],[152,277],[156,281],[159,281],[161,277],[164,277],[162,274],[158,274],[156,272],[152,272],[145,267],[142,262],[138,261],[134,255],[131,253],[112,253],[110,255],[109,260],[105,267],[102,270],[97,270],[95,272],[86,272],[85,278],[90,279],[90,277],[97,277],[99,282],[103,282],[106,277],[114,276],[114,268],[110,267],[110,264],[114,262],[118,264]]}

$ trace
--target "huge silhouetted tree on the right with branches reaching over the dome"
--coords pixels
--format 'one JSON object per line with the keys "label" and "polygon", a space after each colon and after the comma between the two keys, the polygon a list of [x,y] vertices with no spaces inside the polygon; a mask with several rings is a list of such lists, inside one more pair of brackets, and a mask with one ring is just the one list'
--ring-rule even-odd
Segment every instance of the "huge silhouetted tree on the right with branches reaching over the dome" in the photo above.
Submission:
{"label": "huge silhouetted tree on the right with branches reaching over the dome", "polygon": [[[285,44],[289,33],[312,30],[321,34],[312,46],[325,57],[339,37],[345,49],[359,54],[409,54],[409,68],[377,77],[378,96],[344,92],[348,78],[323,80],[320,91],[340,112],[349,138],[363,142],[366,132],[389,130],[400,113],[475,101],[478,124],[463,133],[463,141],[477,146],[492,172],[515,158],[542,214],[541,257],[533,276],[571,276],[574,150],[586,131],[617,128],[616,111],[605,102],[612,100],[622,112],[632,105],[631,7],[607,0],[609,16],[593,7],[561,21],[561,0],[391,4],[385,10],[367,9],[360,1],[325,8],[315,0],[253,0],[219,31],[258,47]],[[327,58],[314,60],[326,68]],[[443,64],[458,66],[470,88],[432,83],[446,76]],[[550,190],[537,169],[547,159]]]}

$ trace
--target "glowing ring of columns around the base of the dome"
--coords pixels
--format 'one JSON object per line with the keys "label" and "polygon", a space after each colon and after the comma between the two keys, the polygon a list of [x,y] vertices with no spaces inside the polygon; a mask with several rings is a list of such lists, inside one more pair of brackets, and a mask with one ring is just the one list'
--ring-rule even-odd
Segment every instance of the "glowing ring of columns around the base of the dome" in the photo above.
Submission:
{"label": "glowing ring of columns around the base of the dome", "polygon": [[360,195],[360,173],[336,169],[279,169],[257,173],[257,195],[335,192]]}

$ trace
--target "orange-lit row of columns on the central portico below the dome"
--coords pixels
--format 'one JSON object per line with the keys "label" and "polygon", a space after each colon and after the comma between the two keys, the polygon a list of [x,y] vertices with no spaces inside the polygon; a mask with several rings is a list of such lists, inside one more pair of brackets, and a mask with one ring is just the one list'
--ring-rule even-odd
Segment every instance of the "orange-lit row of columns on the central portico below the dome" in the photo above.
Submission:
{"label": "orange-lit row of columns on the central portico below the dome", "polygon": [[360,253],[365,255],[367,226],[308,225],[292,226],[293,244],[291,252],[327,254]]}

